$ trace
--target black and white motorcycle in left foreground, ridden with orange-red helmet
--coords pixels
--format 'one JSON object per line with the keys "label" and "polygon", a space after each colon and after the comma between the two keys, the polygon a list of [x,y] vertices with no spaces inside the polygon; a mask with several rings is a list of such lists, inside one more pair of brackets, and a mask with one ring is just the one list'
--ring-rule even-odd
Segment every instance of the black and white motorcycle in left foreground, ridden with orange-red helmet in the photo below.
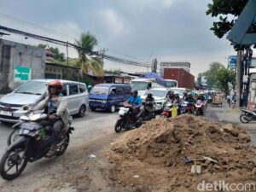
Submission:
{"label": "black and white motorcycle in left foreground, ridden with orange-red helmet", "polygon": [[[40,122],[47,119],[48,115],[44,111],[31,111],[20,117],[20,123],[16,125],[12,137],[9,136],[9,146],[3,154],[0,163],[0,175],[6,180],[19,177],[26,168],[27,162],[33,162],[46,156],[51,143],[51,129],[49,125],[41,125]],[[69,137],[74,130],[71,127],[72,117],[68,126],[61,130],[53,156],[64,154],[69,143]]]}

